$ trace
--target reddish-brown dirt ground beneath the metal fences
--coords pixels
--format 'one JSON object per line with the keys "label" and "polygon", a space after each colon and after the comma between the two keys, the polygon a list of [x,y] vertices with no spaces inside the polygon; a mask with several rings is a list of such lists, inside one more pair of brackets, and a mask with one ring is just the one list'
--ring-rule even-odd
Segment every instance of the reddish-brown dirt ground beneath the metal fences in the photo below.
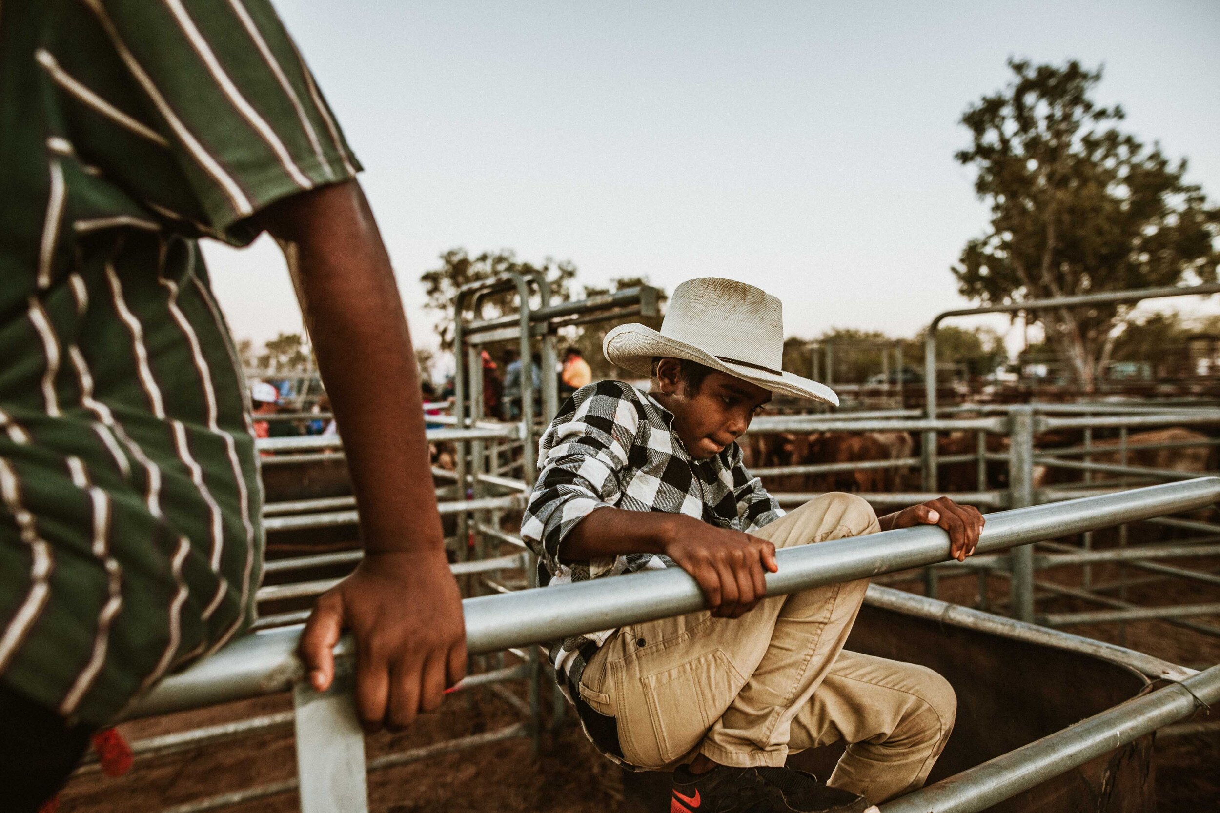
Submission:
{"label": "reddish-brown dirt ground beneath the metal fences", "polygon": [[[1183,566],[1185,567],[1185,566]],[[1188,567],[1215,572],[1220,557],[1193,559]],[[1148,575],[1127,569],[1126,577]],[[1078,569],[1044,575],[1061,584],[1078,585]],[[1094,583],[1119,578],[1116,568],[1096,567]],[[919,590],[919,583],[905,585]],[[1006,583],[988,581],[989,600],[1002,605]],[[941,597],[967,606],[977,602],[974,577],[943,579]],[[1118,595],[1111,592],[1110,595]],[[1127,588],[1126,598],[1139,605],[1202,603],[1220,601],[1220,586],[1198,583],[1149,581]],[[1072,598],[1048,598],[1039,611],[1089,609],[1096,606]],[[1199,618],[1216,624],[1220,619]],[[1164,622],[1092,625],[1069,629],[1125,644],[1150,655],[1193,666],[1220,662],[1220,639]],[[544,692],[549,700],[549,694]],[[544,702],[544,708],[548,703]],[[266,697],[224,707],[140,720],[122,726],[129,739],[243,719],[290,708],[287,696]],[[1213,719],[1215,714],[1213,714]],[[406,734],[381,734],[368,740],[368,757],[438,742],[455,736],[492,731],[517,720],[503,697],[481,689],[454,695],[440,711],[425,715]],[[1199,718],[1203,719],[1203,718]],[[138,759],[127,776],[111,779],[100,773],[79,775],[61,796],[62,813],[126,813],[163,811],[217,793],[264,785],[295,776],[290,728],[281,728],[224,745]],[[1155,746],[1158,808],[1220,813],[1220,733],[1159,737]],[[370,774],[371,809],[378,813],[454,813],[503,811],[539,813],[594,813],[620,811],[645,813],[656,809],[655,791],[662,775],[630,776],[603,759],[584,740],[569,714],[566,724],[547,731],[538,754],[531,741],[515,739],[479,746]],[[650,796],[649,792],[653,792]],[[233,813],[288,813],[296,811],[293,791],[227,807]]]}

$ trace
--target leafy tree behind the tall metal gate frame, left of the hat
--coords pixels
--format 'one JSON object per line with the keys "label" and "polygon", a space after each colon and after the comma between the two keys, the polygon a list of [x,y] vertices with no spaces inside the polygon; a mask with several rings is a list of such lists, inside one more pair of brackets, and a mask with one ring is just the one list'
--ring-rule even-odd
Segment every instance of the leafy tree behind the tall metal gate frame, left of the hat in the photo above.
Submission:
{"label": "leafy tree behind the tall metal gate frame, left of the hat", "polygon": [[[484,251],[471,257],[465,249],[450,249],[440,255],[440,266],[420,277],[428,300],[423,307],[436,314],[436,332],[440,336],[440,349],[454,347],[454,299],[458,290],[468,283],[490,279],[510,271],[529,274],[542,272],[550,282],[550,301],[569,299],[569,283],[576,277],[576,266],[569,261],[547,257],[540,266],[520,262],[512,251]],[[516,290],[488,296],[483,300],[482,318],[492,319],[516,310]],[[467,314],[470,317],[471,314]]]}

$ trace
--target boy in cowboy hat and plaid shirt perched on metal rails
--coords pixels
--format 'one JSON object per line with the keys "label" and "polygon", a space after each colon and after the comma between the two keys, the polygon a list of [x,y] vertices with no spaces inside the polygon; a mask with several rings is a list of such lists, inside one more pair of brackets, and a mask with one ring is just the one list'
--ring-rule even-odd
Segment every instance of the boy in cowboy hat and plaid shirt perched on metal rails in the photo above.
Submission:
{"label": "boy in cowboy hat and plaid shirt perched on metal rails", "polygon": [[[708,609],[556,641],[550,659],[589,739],[634,768],[673,769],[672,813],[859,812],[920,787],[953,729],[953,689],[925,667],[843,650],[866,580],[764,598],[776,547],[915,524],[974,552],[982,514],[941,497],[881,517],[824,494],[789,514],[737,439],[784,392],[838,403],[780,369],[782,306],[728,279],[673,293],[661,330],[625,324],[603,350],[651,377],[578,390],[539,442],[521,535],[539,584],[677,566]],[[845,740],[830,781],[789,753]]]}

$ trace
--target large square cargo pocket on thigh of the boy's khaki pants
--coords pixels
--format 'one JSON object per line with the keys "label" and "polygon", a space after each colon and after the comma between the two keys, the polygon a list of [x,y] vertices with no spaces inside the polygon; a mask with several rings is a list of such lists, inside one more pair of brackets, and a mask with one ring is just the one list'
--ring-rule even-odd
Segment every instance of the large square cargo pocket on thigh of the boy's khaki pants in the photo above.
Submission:
{"label": "large square cargo pocket on thigh of the boy's khaki pants", "polygon": [[721,650],[645,675],[644,700],[660,765],[682,758],[728,708],[745,680]]}

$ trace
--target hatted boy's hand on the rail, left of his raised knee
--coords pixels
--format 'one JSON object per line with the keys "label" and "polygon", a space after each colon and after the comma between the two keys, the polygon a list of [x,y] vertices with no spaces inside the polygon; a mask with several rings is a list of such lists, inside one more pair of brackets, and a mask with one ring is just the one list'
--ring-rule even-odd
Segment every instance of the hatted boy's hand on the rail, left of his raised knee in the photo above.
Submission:
{"label": "hatted boy's hand on the rail, left of his raised knee", "polygon": [[778,569],[771,542],[681,514],[675,516],[662,550],[699,583],[717,618],[739,618],[754,609],[766,596],[764,570]]}

